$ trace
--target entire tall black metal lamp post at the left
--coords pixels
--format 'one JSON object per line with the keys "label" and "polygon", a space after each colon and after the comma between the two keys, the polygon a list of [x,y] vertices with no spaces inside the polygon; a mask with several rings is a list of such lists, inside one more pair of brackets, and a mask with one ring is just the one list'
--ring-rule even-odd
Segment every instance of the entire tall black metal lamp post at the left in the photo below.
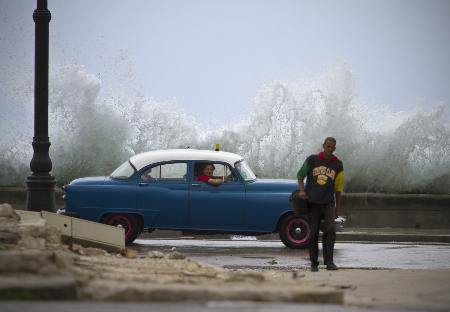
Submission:
{"label": "entire tall black metal lamp post at the left", "polygon": [[56,212],[55,178],[49,156],[49,22],[47,0],[37,0],[33,12],[34,44],[34,137],[32,174],[27,177],[27,210]]}

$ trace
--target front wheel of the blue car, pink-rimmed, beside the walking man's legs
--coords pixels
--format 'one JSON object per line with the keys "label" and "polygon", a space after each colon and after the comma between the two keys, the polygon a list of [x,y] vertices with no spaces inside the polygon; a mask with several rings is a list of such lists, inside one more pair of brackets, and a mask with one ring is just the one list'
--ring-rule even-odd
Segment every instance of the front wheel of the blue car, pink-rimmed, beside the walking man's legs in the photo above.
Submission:
{"label": "front wheel of the blue car, pink-rimmed, beside the walking man's legs", "polygon": [[291,249],[306,249],[310,236],[310,228],[308,225],[308,216],[302,215],[298,217],[291,214],[284,218],[280,225],[279,236],[286,247]]}

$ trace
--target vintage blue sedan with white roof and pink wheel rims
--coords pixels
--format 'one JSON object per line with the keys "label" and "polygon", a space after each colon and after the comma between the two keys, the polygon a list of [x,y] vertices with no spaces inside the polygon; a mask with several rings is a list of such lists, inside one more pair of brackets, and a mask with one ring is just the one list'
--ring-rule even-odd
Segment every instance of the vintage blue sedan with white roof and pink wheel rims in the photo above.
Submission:
{"label": "vintage blue sedan with white roof and pink wheel rims", "polygon": [[[197,180],[208,163],[219,184]],[[284,245],[302,249],[310,234],[307,216],[293,214],[289,202],[297,181],[257,178],[241,156],[228,152],[145,152],[109,177],[79,178],[62,189],[66,207],[59,214],[123,227],[126,245],[158,229],[188,235],[278,232]],[[340,231],[345,217],[335,221]]]}

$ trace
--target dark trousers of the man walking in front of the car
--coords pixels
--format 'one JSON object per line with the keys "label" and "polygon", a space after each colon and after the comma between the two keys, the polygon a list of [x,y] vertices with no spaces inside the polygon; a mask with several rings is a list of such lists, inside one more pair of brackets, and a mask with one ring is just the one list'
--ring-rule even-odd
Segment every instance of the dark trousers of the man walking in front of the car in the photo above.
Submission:
{"label": "dark trousers of the man walking in front of the car", "polygon": [[322,218],[325,220],[325,231],[322,237],[322,249],[324,251],[324,264],[333,263],[333,249],[336,241],[336,227],[334,224],[334,201],[328,204],[308,203],[308,223],[310,238],[308,248],[310,251],[311,265],[319,265],[319,229]]}

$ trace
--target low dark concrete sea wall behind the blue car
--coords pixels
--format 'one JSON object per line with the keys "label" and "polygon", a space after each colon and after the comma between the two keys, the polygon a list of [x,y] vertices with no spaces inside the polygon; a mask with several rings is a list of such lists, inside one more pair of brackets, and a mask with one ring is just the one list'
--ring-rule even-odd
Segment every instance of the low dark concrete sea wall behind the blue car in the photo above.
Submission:
{"label": "low dark concrete sea wall behind the blue car", "polygon": [[[57,209],[64,206],[55,190]],[[26,187],[0,187],[0,204],[25,209]],[[339,214],[345,227],[450,229],[450,195],[342,193]]]}

